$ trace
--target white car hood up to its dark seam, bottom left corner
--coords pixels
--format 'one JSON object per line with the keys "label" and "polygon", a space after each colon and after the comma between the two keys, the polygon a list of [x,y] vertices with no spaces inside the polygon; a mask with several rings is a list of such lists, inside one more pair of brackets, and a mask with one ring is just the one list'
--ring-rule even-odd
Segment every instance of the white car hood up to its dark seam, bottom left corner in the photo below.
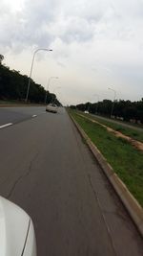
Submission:
{"label": "white car hood up to its dark seam, bottom left corner", "polygon": [[21,256],[30,217],[17,205],[0,197],[0,256]]}

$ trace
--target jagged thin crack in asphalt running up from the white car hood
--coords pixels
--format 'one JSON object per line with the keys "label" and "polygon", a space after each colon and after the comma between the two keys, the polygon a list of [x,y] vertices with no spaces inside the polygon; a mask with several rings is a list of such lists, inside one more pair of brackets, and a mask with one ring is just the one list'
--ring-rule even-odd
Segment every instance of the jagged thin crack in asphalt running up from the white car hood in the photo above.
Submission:
{"label": "jagged thin crack in asphalt running up from the white car hood", "polygon": [[31,162],[30,162],[30,165],[29,165],[29,168],[28,168],[28,172],[27,172],[26,174],[24,174],[24,175],[20,175],[20,176],[15,180],[15,182],[13,183],[13,185],[12,185],[12,187],[11,187],[11,189],[10,189],[10,192],[9,192],[8,196],[6,197],[7,199],[9,199],[9,198],[11,197],[11,195],[12,195],[12,193],[13,193],[13,191],[14,191],[16,185],[19,183],[19,181],[20,181],[22,178],[24,178],[24,177],[26,177],[26,176],[28,176],[28,175],[31,174],[32,163],[33,163],[34,159],[38,156],[38,154],[39,154],[39,152],[37,152],[37,153],[34,155],[34,157],[31,159]]}

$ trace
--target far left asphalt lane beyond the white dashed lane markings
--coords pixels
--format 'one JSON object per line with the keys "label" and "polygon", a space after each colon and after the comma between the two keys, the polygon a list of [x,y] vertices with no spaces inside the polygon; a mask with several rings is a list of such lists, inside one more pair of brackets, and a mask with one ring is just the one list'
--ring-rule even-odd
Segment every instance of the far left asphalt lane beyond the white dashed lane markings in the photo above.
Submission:
{"label": "far left asphalt lane beyond the white dashed lane markings", "polygon": [[0,107],[0,128],[31,119],[45,112],[45,106]]}

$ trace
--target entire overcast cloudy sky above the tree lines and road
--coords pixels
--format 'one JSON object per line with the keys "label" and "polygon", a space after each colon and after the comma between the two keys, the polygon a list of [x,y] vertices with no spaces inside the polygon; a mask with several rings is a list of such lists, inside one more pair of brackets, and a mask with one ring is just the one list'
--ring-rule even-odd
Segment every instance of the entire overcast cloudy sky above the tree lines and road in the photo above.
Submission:
{"label": "entire overcast cloudy sky above the tree lines and road", "polygon": [[64,105],[143,98],[143,0],[1,0],[0,54]]}

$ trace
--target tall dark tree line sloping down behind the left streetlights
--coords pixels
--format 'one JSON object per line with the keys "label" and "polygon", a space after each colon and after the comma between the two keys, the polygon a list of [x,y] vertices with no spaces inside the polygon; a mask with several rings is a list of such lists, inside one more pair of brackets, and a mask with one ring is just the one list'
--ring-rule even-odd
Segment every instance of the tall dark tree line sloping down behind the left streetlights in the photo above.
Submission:
{"label": "tall dark tree line sloping down behind the left streetlights", "polygon": [[[10,70],[10,67],[2,64],[4,57],[0,55],[0,100],[16,100],[24,102],[27,94],[29,77],[21,75],[20,71]],[[29,103],[44,104],[47,93],[47,103],[54,102],[60,105],[56,99],[56,95],[46,92],[45,88],[31,80],[29,92]]]}

